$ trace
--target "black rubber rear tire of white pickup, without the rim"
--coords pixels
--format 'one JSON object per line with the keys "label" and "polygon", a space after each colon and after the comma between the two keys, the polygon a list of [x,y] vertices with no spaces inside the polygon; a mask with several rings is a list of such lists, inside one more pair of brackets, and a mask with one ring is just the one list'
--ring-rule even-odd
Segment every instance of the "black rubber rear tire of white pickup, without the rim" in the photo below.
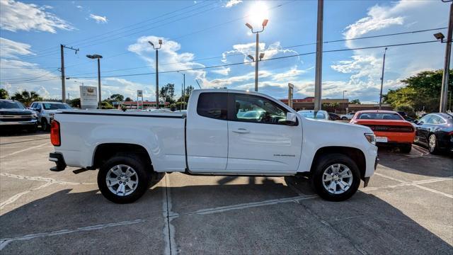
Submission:
{"label": "black rubber rear tire of white pickup, without the rim", "polygon": [[[98,187],[105,198],[112,201],[113,203],[132,203],[135,200],[141,198],[147,191],[148,185],[151,181],[151,172],[147,171],[146,161],[135,154],[128,156],[116,155],[101,166],[98,172]],[[125,196],[119,196],[108,188],[107,185],[107,174],[110,169],[114,166],[125,165],[130,166],[137,174],[137,187],[132,193]]]}

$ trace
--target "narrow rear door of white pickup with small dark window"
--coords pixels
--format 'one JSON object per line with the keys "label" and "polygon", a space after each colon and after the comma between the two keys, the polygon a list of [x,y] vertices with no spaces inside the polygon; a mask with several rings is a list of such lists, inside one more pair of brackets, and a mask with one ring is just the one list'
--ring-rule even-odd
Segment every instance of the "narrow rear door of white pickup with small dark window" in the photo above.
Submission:
{"label": "narrow rear door of white pickup with small dark window", "polygon": [[202,173],[226,169],[228,156],[227,101],[228,93],[226,91],[200,93],[196,109],[188,112],[186,149],[190,171]]}

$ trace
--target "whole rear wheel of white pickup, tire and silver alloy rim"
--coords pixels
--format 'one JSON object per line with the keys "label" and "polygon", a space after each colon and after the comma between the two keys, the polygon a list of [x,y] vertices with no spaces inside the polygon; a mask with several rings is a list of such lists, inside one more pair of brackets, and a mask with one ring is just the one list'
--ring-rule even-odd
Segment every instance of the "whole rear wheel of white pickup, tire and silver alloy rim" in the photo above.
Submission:
{"label": "whole rear wheel of white pickup, tire and silver alloy rim", "polygon": [[151,180],[145,163],[136,155],[108,159],[98,172],[98,187],[113,203],[132,203],[143,196]]}

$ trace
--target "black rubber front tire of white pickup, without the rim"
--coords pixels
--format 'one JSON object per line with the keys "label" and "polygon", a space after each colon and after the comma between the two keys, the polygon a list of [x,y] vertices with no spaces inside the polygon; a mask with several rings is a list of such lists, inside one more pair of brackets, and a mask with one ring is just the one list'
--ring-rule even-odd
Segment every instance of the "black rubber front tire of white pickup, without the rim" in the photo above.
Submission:
{"label": "black rubber front tire of white pickup, without the rim", "polygon": [[[343,164],[344,166],[347,166],[352,174],[352,183],[350,184],[349,188],[343,193],[339,194],[331,193],[323,186],[324,171],[335,164]],[[321,198],[335,202],[347,200],[355,194],[360,186],[360,171],[357,167],[357,164],[355,164],[355,162],[345,154],[324,154],[316,159],[316,162],[314,162],[314,166],[311,169],[311,185],[313,186],[316,193],[321,196]]]}

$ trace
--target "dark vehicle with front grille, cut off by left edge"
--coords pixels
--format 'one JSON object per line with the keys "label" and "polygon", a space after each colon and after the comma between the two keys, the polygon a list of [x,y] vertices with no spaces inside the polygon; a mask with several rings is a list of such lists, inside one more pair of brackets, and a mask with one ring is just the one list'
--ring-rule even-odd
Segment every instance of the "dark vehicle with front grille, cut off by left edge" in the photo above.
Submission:
{"label": "dark vehicle with front grille, cut off by left edge", "polygon": [[38,115],[35,111],[25,108],[21,102],[0,99],[0,128],[36,132]]}

